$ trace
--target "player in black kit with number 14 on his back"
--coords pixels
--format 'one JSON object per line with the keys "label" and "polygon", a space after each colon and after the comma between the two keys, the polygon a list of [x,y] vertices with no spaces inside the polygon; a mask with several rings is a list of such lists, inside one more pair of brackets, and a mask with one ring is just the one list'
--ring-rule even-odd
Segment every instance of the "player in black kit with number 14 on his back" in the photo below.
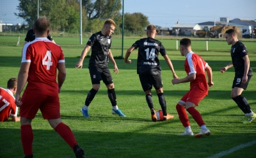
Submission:
{"label": "player in black kit with number 14 on his back", "polygon": [[137,74],[140,77],[141,86],[143,91],[145,91],[146,101],[148,107],[151,111],[152,121],[157,121],[156,110],[154,109],[152,102],[151,89],[152,86],[156,89],[158,95],[159,104],[161,105],[163,111],[163,120],[172,119],[173,115],[170,115],[166,112],[166,101],[164,99],[163,93],[163,83],[161,79],[161,66],[159,63],[158,56],[161,54],[168,67],[172,70],[173,78],[177,78],[171,60],[168,58],[168,55],[164,49],[163,44],[154,39],[156,36],[156,26],[149,25],[147,26],[147,38],[142,38],[137,40],[132,46],[127,50],[124,58],[125,63],[131,63],[131,59],[128,59],[131,52],[134,49],[139,48],[138,50],[138,61],[137,61]]}

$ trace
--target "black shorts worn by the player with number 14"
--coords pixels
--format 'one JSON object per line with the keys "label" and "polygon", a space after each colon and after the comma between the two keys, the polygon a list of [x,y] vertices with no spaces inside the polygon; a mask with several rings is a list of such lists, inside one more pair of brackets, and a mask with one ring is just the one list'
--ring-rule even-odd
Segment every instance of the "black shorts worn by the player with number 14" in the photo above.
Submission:
{"label": "black shorts worn by the player with number 14", "polygon": [[152,85],[156,90],[163,88],[161,74],[158,74],[158,75],[139,74],[139,77],[140,77],[140,83],[143,88],[143,91],[151,90]]}

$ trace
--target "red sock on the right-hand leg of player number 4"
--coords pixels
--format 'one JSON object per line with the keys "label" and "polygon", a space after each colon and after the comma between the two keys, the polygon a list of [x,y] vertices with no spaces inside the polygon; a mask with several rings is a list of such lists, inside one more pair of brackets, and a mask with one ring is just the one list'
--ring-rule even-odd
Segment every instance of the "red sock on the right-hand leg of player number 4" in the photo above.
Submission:
{"label": "red sock on the right-hand leg of player number 4", "polygon": [[74,146],[77,144],[76,138],[67,125],[61,122],[54,130],[60,134],[61,138],[63,138],[72,149],[74,149]]}

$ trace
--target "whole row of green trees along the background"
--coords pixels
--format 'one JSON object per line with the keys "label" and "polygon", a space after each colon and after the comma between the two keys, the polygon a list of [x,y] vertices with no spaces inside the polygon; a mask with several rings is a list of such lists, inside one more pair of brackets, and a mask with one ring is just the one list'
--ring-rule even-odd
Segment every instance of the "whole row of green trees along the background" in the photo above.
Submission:
{"label": "whole row of green trees along the background", "polygon": [[[99,31],[105,20],[115,20],[116,30],[122,29],[121,0],[81,0],[83,31]],[[24,19],[29,28],[37,19],[38,0],[19,0],[15,13]],[[39,16],[45,15],[51,23],[51,31],[76,33],[79,30],[80,0],[40,0]],[[143,13],[125,13],[124,28],[129,31],[141,31],[149,24]]]}

